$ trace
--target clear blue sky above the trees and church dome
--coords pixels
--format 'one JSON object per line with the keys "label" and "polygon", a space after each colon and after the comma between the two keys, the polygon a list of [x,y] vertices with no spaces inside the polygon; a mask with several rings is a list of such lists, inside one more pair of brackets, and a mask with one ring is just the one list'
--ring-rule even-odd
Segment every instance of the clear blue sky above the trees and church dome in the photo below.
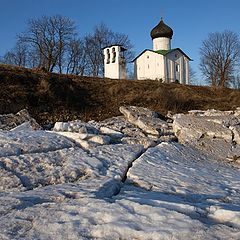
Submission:
{"label": "clear blue sky above the trees and church dome", "polygon": [[61,14],[75,21],[80,36],[105,23],[125,33],[136,54],[152,48],[151,29],[163,16],[174,31],[172,47],[181,48],[198,70],[199,47],[208,33],[232,30],[240,34],[240,0],[0,0],[0,55],[15,44],[27,20]]}

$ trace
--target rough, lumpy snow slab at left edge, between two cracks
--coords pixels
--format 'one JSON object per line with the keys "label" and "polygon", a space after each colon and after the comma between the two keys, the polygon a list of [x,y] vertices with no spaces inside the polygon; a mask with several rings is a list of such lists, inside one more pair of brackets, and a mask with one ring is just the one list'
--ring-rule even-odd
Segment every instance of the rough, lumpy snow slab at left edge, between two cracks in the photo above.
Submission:
{"label": "rough, lumpy snow slab at left edge, between two cracks", "polygon": [[96,172],[101,162],[82,149],[61,149],[48,153],[0,158],[1,166],[17,176],[26,189],[75,182]]}

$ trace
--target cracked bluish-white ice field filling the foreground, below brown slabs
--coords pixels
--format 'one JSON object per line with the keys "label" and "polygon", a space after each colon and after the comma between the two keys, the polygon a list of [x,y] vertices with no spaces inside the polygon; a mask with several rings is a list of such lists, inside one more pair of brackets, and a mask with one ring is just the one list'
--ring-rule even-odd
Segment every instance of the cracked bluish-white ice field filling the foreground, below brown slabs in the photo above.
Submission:
{"label": "cracked bluish-white ice field filling the foreground, below brown slabs", "polygon": [[122,118],[0,132],[0,239],[240,239],[239,165],[165,124],[166,141]]}

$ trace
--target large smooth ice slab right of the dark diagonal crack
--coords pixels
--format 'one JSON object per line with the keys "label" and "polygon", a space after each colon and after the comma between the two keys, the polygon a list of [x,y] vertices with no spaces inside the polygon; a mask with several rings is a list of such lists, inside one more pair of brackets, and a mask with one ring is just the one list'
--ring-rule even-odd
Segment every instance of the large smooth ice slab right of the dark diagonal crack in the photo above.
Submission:
{"label": "large smooth ice slab right of the dark diagonal crack", "polygon": [[155,192],[165,207],[239,227],[239,169],[196,150],[170,143],[148,149],[133,163],[128,181]]}

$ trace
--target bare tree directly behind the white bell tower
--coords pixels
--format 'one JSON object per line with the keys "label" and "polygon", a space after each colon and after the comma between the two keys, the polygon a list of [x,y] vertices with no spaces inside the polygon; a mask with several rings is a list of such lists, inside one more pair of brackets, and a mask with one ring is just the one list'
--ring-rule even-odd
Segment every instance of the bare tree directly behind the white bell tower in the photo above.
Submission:
{"label": "bare tree directly behind the white bell tower", "polygon": [[92,76],[102,76],[104,71],[103,48],[108,45],[118,44],[128,49],[126,60],[133,58],[133,46],[127,35],[115,33],[106,25],[95,27],[93,34],[85,37],[85,54],[87,60],[86,73]]}

